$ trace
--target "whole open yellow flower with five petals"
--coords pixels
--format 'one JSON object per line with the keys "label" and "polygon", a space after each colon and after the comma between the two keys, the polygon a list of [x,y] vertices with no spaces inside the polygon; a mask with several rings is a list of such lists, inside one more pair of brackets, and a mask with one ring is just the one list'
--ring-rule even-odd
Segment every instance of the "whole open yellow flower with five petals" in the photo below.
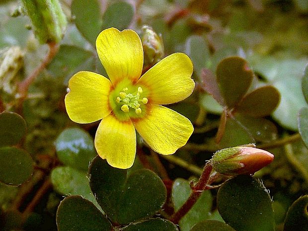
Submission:
{"label": "whole open yellow flower with five petals", "polygon": [[[187,98],[195,87],[187,55],[167,56],[142,77],[142,42],[133,30],[103,30],[96,50],[109,79],[78,72],[69,81],[65,105],[71,120],[101,120],[95,134],[99,156],[117,168],[129,168],[136,155],[136,130],[159,154],[173,154],[193,132],[191,122],[160,106]],[[136,129],[136,130],[135,130]]]}

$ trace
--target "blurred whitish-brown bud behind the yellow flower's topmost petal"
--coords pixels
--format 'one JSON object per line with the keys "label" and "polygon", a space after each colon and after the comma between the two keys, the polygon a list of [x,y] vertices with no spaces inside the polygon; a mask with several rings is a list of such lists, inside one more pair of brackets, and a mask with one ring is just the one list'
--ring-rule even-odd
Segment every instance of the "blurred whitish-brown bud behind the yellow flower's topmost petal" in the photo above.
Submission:
{"label": "blurred whitish-brown bud behind the yellow flower's topmost petal", "polygon": [[150,26],[143,26],[141,40],[145,53],[145,67],[152,67],[164,56],[162,38]]}

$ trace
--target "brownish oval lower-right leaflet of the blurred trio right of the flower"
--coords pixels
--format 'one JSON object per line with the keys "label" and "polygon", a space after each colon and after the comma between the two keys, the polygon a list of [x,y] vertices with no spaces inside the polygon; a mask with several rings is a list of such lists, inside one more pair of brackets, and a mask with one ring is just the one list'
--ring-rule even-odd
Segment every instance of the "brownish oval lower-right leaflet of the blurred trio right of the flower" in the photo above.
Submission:
{"label": "brownish oval lower-right leaflet of the blurred trio right of the flower", "polygon": [[252,117],[270,115],[280,101],[279,91],[273,86],[259,87],[247,95],[236,105],[236,111]]}

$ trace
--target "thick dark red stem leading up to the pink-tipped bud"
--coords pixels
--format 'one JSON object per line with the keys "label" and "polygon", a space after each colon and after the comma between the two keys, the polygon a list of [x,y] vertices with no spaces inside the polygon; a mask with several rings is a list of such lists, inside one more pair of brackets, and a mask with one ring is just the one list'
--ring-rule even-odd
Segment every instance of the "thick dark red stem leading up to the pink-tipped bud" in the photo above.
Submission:
{"label": "thick dark red stem leading up to the pink-tipped bud", "polygon": [[190,194],[184,205],[182,205],[182,207],[175,214],[172,215],[170,219],[171,222],[173,222],[174,224],[178,224],[182,217],[184,217],[194,206],[198,198],[201,196],[202,192],[208,189],[207,182],[210,178],[211,171],[212,165],[211,163],[207,162],[203,168],[202,175],[200,176],[197,184],[192,188],[192,193]]}

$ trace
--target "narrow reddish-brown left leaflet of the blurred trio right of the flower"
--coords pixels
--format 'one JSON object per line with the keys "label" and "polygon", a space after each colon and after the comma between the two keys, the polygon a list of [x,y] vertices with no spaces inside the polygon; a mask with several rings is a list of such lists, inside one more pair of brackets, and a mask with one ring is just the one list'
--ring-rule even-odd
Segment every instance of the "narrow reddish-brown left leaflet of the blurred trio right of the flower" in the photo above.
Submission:
{"label": "narrow reddish-brown left leaflet of the blurred trio right of the flower", "polygon": [[221,105],[225,106],[224,98],[220,92],[216,76],[209,70],[203,69],[201,73],[201,87],[213,96],[213,98]]}

